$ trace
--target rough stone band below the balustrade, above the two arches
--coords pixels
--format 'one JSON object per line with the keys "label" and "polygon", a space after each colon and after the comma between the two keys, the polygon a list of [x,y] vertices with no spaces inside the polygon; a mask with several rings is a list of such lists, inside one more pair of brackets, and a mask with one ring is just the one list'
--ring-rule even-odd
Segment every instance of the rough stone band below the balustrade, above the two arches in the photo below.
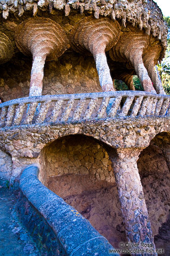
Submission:
{"label": "rough stone band below the balustrade, above the two arches", "polygon": [[[122,123],[123,120],[123,123]],[[0,146],[13,157],[13,177],[27,164],[39,163],[39,153],[48,143],[74,134],[84,134],[105,142],[114,148],[147,147],[157,133],[170,130],[169,118],[120,118],[108,122],[89,121],[78,124],[31,125],[1,128]]]}

